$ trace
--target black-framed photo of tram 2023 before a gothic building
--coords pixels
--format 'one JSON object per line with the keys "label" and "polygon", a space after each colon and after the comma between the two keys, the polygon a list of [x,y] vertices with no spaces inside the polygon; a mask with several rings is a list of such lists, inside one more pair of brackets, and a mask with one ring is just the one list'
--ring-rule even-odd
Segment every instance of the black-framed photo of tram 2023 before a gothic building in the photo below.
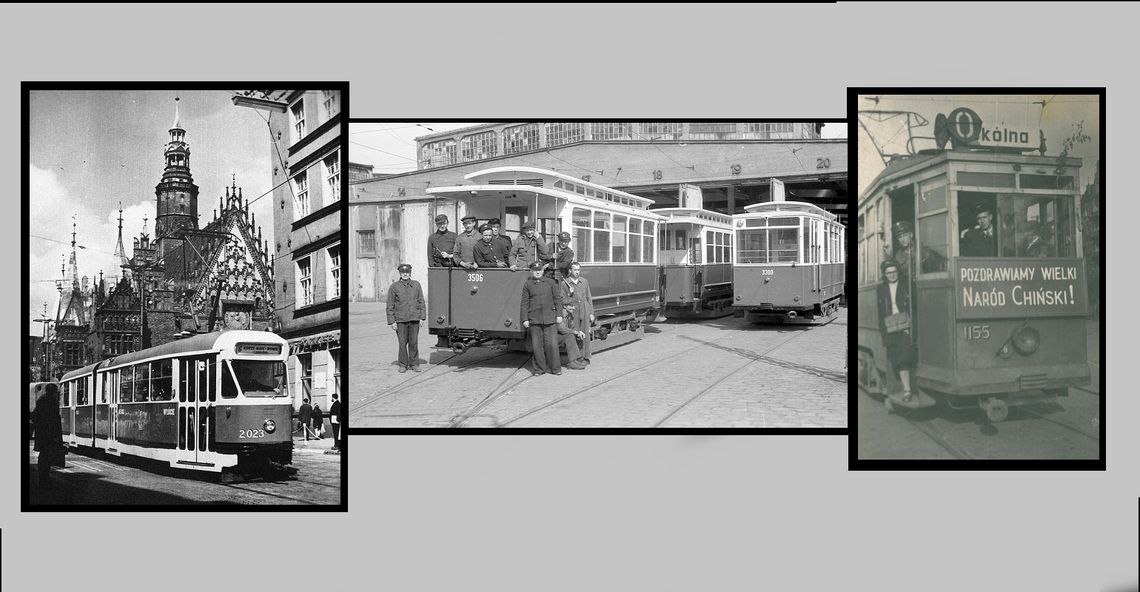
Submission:
{"label": "black-framed photo of tram 2023 before a gothic building", "polygon": [[347,84],[223,87],[24,86],[25,511],[347,510]]}

